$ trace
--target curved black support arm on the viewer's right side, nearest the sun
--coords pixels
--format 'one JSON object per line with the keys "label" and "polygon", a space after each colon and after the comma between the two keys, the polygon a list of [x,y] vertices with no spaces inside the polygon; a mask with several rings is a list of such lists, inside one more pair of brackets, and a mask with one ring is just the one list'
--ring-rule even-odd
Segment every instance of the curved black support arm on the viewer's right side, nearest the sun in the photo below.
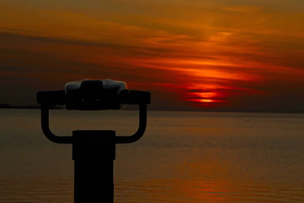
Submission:
{"label": "curved black support arm on the viewer's right side, nearest the sun", "polygon": [[144,134],[147,126],[147,105],[139,105],[139,127],[133,136],[118,136],[116,144],[128,144],[138,141]]}

